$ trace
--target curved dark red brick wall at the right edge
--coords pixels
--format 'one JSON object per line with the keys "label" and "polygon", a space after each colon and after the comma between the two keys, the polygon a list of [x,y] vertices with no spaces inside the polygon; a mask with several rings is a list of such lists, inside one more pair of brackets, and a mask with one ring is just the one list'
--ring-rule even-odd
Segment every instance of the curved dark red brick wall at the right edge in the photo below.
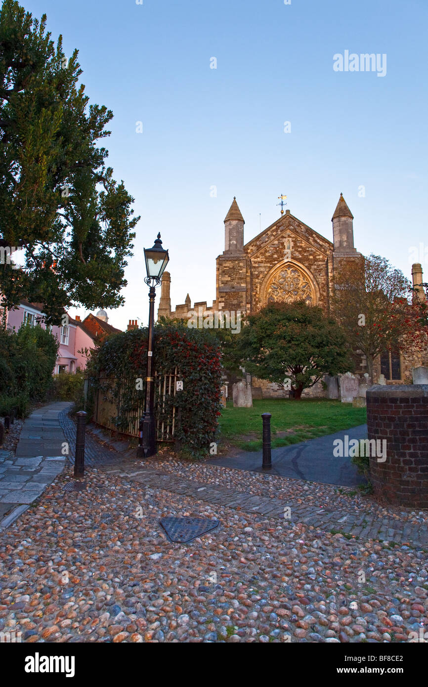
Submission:
{"label": "curved dark red brick wall at the right edge", "polygon": [[370,456],[383,501],[428,508],[428,385],[374,386],[367,392],[368,438],[386,440],[386,460]]}

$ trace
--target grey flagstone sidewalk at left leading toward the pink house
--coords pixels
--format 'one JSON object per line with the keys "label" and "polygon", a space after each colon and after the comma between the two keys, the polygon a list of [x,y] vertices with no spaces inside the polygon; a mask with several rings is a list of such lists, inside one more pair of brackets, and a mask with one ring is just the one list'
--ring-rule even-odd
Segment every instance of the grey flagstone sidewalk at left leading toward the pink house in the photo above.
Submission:
{"label": "grey flagstone sidewalk at left leading toward the pink house", "polygon": [[27,510],[63,471],[66,440],[58,416],[69,407],[57,402],[38,408],[25,420],[15,455],[1,452],[0,529]]}

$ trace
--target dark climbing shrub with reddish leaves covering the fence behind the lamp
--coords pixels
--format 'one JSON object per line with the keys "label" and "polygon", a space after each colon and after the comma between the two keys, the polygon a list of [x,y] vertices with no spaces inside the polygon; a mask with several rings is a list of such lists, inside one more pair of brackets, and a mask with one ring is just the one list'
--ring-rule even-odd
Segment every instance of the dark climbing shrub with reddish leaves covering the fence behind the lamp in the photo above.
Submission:
{"label": "dark climbing shrub with reddish leaves covering the fence behind the lamp", "polygon": [[[104,392],[106,403],[115,403],[111,418],[120,431],[137,419],[146,394],[147,328],[111,335],[95,350],[87,368],[93,394]],[[183,391],[166,396],[164,414],[155,387],[157,418],[170,417],[176,407],[174,439],[194,458],[208,453],[217,435],[221,398],[221,346],[210,331],[189,329],[185,323],[164,320],[155,325],[154,367],[158,374],[177,368]],[[100,379],[101,376],[101,379]],[[139,380],[139,381],[137,381]],[[137,388],[136,388],[137,387]]]}

